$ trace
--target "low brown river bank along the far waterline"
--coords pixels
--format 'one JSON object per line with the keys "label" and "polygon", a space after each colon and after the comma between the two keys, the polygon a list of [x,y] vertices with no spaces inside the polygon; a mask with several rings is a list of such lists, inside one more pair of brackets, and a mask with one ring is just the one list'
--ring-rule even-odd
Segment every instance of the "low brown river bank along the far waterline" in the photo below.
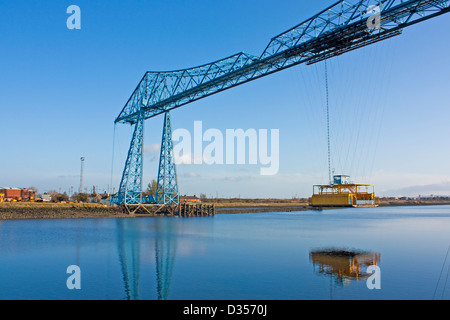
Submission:
{"label": "low brown river bank along the far waterline", "polygon": [[[336,207],[313,208],[307,202],[292,200],[265,199],[233,199],[216,202],[216,214],[239,214],[257,212],[297,212],[320,211],[336,209]],[[450,201],[444,200],[381,200],[380,207],[398,206],[430,206],[450,205]],[[146,215],[129,215],[120,206],[109,206],[97,203],[38,203],[38,202],[14,202],[0,203],[1,220],[19,219],[72,219],[72,218],[130,218],[145,217]]]}

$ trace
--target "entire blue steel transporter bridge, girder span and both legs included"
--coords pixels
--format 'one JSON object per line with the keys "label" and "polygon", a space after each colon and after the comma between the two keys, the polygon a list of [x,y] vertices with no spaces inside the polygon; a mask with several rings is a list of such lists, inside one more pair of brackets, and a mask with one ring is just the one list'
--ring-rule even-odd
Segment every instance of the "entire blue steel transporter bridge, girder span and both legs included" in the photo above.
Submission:
{"label": "entire blue steel transporter bridge, girder span and both legs included", "polygon": [[[115,124],[134,126],[117,196],[121,205],[178,205],[170,111],[299,64],[314,64],[402,34],[450,11],[444,0],[341,0],[273,37],[260,55],[237,53],[202,66],[146,72]],[[145,120],[164,115],[156,197],[143,196]]]}

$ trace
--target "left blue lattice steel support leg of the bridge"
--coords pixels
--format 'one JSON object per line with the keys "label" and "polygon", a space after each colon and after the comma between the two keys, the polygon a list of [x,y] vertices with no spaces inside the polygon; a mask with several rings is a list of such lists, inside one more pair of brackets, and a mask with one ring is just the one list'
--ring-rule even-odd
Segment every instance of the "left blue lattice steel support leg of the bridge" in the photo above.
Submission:
{"label": "left blue lattice steel support leg of the bridge", "polygon": [[139,115],[120,182],[118,204],[142,203],[142,167],[144,143],[144,117]]}

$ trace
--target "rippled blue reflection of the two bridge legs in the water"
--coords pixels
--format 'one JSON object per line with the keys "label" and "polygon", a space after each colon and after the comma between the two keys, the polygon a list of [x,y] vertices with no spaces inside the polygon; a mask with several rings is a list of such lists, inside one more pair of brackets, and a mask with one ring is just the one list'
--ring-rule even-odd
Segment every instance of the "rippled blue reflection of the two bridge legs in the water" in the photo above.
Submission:
{"label": "rippled blue reflection of the two bridge legs in the water", "polygon": [[[143,235],[142,224],[136,218],[117,219],[118,253],[122,270],[125,298],[139,300],[140,250]],[[167,300],[176,254],[177,226],[173,219],[155,218],[154,248],[156,264],[156,293],[158,300]],[[146,232],[148,230],[145,230]]]}

